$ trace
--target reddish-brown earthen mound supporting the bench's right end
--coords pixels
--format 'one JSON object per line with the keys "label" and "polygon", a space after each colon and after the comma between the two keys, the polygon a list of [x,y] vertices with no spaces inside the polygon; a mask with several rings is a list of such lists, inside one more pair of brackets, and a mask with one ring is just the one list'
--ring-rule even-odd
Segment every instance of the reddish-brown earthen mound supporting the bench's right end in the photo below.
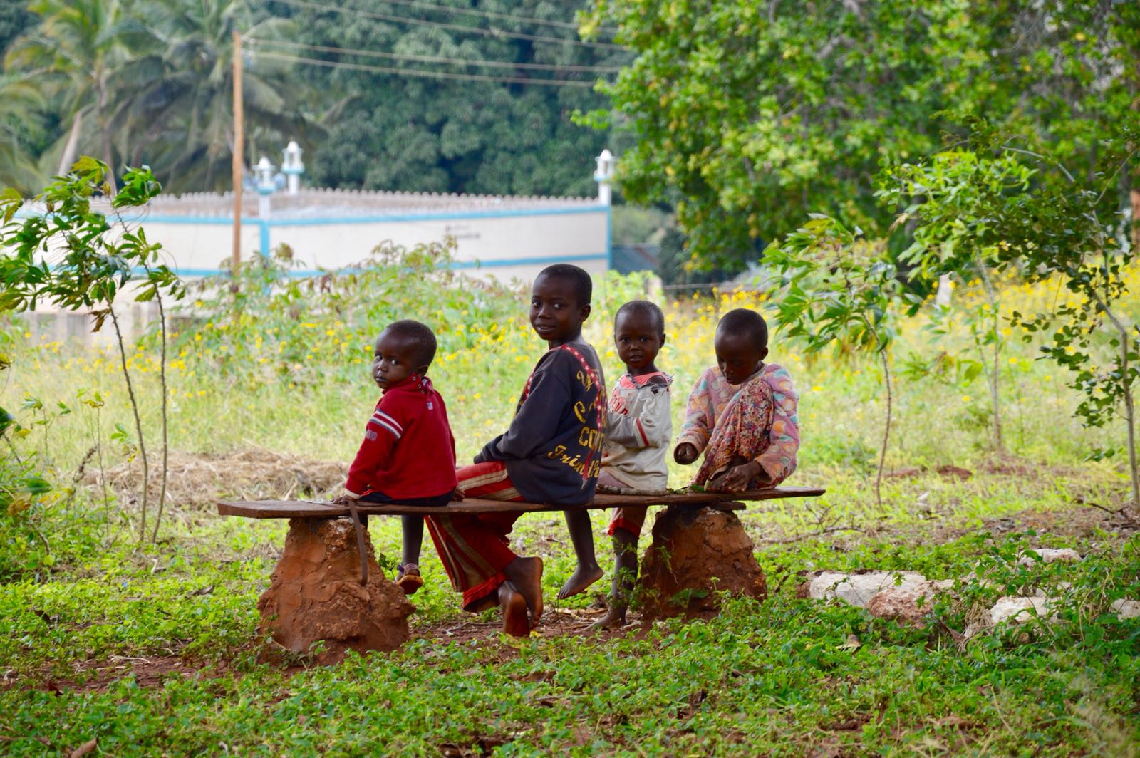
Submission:
{"label": "reddish-brown earthen mound supporting the bench's right end", "polygon": [[671,505],[661,512],[641,576],[645,620],[716,611],[717,592],[759,600],[768,594],[740,519],[714,508]]}

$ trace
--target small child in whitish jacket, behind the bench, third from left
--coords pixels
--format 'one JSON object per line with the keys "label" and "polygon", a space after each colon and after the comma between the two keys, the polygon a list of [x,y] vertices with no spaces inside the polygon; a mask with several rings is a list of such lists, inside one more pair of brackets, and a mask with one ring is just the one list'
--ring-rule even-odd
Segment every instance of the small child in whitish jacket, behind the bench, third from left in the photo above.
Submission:
{"label": "small child in whitish jacket, behind the bench, third from left", "polygon": [[[656,365],[665,344],[665,313],[645,300],[626,303],[613,318],[613,342],[626,373],[610,393],[598,489],[665,492],[669,479],[666,455],[673,438],[673,378]],[[637,538],[648,511],[648,506],[613,510],[609,528],[613,537],[613,587],[610,610],[594,625],[596,628],[609,629],[626,621],[637,579]]]}

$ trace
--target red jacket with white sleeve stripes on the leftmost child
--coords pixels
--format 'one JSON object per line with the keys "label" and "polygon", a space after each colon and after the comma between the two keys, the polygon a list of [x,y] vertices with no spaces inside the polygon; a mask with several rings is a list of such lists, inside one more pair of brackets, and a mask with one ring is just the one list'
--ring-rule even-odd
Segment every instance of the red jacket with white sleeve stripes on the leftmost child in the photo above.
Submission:
{"label": "red jacket with white sleeve stripes on the leftmost child", "polygon": [[384,390],[344,489],[405,499],[446,495],[457,483],[455,438],[431,380],[413,374]]}

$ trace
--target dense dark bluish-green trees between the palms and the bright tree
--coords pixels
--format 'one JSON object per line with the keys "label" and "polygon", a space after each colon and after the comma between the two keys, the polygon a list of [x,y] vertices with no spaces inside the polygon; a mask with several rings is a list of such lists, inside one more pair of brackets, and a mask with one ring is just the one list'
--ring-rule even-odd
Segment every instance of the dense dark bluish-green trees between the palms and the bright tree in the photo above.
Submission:
{"label": "dense dark bluish-green trees between the palms and the bright tree", "polygon": [[[519,195],[593,195],[593,157],[605,136],[571,120],[576,109],[596,108],[603,99],[589,84],[608,72],[572,67],[613,66],[628,55],[613,48],[584,48],[572,28],[511,18],[482,19],[463,13],[409,13],[402,6],[347,0],[359,13],[292,9],[304,44],[378,50],[402,56],[499,62],[507,67],[450,65],[426,60],[377,59],[328,51],[253,43],[259,55],[290,54],[331,64],[383,65],[492,78],[559,79],[586,87],[553,87],[499,81],[451,81],[420,75],[303,65],[303,76],[337,98],[326,116],[327,136],[311,161],[314,181],[332,187]],[[448,3],[451,5],[451,3]],[[454,3],[457,11],[470,3]],[[569,23],[583,3],[549,0],[480,2],[478,10]],[[400,23],[373,11],[406,16]],[[511,33],[564,39],[513,39],[459,27],[502,28]],[[253,35],[251,35],[253,36]],[[554,66],[557,71],[528,66]],[[518,66],[518,67],[514,67]]]}

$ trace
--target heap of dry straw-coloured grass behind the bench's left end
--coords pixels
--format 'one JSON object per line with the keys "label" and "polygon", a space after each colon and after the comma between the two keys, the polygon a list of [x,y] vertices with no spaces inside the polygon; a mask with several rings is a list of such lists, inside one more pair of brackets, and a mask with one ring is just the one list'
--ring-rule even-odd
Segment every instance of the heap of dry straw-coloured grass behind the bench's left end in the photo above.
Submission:
{"label": "heap of dry straw-coloured grass behind the bench's left end", "polygon": [[[162,486],[160,458],[149,457],[150,491],[157,496]],[[170,451],[166,498],[179,506],[213,507],[225,499],[287,500],[328,491],[344,482],[348,467],[344,462],[312,460],[294,455],[272,453],[261,448],[245,448],[229,453]],[[131,500],[142,487],[142,460],[109,468],[100,474],[91,471],[84,482],[99,487],[106,484],[120,497]]]}

